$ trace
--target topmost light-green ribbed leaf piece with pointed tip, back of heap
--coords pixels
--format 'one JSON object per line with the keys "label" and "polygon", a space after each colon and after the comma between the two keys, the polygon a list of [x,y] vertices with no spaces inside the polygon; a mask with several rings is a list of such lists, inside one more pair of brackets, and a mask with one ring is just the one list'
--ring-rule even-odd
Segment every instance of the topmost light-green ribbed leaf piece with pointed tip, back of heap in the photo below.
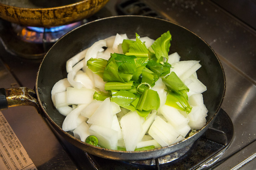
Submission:
{"label": "topmost light-green ribbed leaf piece with pointed tip, back of heap", "polygon": [[140,36],[137,33],[136,41],[129,46],[129,52],[125,53],[125,55],[148,58],[148,48],[144,42],[140,40]]}

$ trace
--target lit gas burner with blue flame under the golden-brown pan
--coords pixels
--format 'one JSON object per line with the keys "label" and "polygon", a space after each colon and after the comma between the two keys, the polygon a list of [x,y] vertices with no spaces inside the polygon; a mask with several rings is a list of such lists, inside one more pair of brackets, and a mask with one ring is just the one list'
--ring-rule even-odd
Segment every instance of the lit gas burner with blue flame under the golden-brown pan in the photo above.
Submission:
{"label": "lit gas burner with blue flame under the golden-brown pan", "polygon": [[84,19],[64,26],[42,28],[21,26],[0,19],[0,40],[12,55],[41,60],[59,38],[87,22]]}

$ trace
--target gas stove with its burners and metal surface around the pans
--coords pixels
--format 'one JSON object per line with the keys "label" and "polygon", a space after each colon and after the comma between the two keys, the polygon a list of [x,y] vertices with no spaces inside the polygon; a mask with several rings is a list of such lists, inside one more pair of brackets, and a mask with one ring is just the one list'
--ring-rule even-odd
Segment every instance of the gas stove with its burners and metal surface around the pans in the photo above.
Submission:
{"label": "gas stove with its burners and metal surface around the pans", "polygon": [[[247,9],[256,5],[251,1],[251,4],[242,6]],[[231,7],[226,8],[226,4],[218,0],[110,0],[94,16],[81,21],[86,23],[116,15],[146,15],[190,29],[213,47],[223,64],[226,94],[222,109],[207,132],[184,151],[142,162],[107,160],[81,151],[55,133],[33,107],[2,111],[36,168],[169,170],[256,167],[256,117],[253,112],[256,109],[256,28],[254,21],[235,13]],[[24,49],[24,44],[9,33],[12,24],[0,22],[0,87],[26,86],[33,89],[40,61],[54,41],[44,37],[32,44],[23,41]],[[53,39],[57,40],[58,36]],[[15,42],[12,46],[11,41]],[[27,51],[28,46],[32,46],[32,52]]]}

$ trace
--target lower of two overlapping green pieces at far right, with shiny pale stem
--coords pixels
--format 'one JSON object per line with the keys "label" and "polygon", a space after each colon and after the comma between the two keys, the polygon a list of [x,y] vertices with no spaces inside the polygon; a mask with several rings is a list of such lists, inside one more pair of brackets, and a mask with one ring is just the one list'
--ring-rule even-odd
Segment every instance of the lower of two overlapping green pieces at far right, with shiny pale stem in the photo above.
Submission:
{"label": "lower of two overlapping green pieces at far right, with shiny pale stem", "polygon": [[181,111],[185,111],[187,114],[190,113],[192,109],[186,97],[176,93],[175,91],[169,91],[165,104],[175,107]]}

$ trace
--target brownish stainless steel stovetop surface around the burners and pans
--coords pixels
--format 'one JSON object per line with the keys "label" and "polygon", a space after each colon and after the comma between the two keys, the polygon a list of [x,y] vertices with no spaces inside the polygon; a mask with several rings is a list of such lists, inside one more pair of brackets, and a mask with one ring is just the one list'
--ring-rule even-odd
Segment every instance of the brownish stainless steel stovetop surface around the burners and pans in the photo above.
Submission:
{"label": "brownish stainless steel stovetop surface around the burners and pans", "polygon": [[[110,0],[95,18],[114,16],[122,1]],[[143,1],[144,2],[144,1]],[[256,2],[218,0],[148,0],[145,4],[164,19],[181,24],[201,36],[219,56],[226,75],[226,94],[222,109],[234,125],[229,147],[213,169],[254,169],[256,167],[256,28],[255,19],[240,11],[256,11]],[[254,10],[249,10],[248,7]],[[136,11],[135,11],[136,12]],[[234,12],[234,13],[233,13]],[[256,16],[256,13],[247,16]],[[134,13],[136,14],[136,13]],[[250,15],[249,15],[250,14]],[[246,19],[247,18],[247,19]],[[0,25],[0,29],[3,26]],[[0,87],[26,86],[33,89],[40,60],[27,60],[0,46]],[[55,135],[47,122],[29,106],[2,111],[28,155],[38,169],[95,169],[89,160],[74,155],[84,154]],[[69,151],[73,151],[70,153]],[[77,161],[82,161],[82,165]],[[107,166],[107,165],[106,165]],[[103,166],[104,167],[104,166]],[[203,167],[202,167],[203,168]]]}

